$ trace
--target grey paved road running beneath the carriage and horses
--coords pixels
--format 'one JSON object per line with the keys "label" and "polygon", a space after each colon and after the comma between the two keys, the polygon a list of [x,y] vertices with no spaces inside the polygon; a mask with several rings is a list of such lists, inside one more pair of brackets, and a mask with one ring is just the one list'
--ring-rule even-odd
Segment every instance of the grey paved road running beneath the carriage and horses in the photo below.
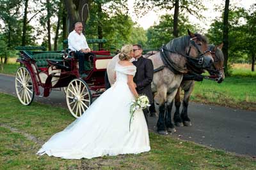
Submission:
{"label": "grey paved road running beneath the carriage and horses", "polygon": [[[14,77],[0,74],[0,92],[15,95],[14,85]],[[61,91],[52,91],[49,97],[36,96],[35,101],[67,107]],[[193,125],[177,127],[170,136],[256,157],[255,111],[191,103],[189,117]],[[157,118],[149,118],[149,129],[156,131],[156,121]]]}

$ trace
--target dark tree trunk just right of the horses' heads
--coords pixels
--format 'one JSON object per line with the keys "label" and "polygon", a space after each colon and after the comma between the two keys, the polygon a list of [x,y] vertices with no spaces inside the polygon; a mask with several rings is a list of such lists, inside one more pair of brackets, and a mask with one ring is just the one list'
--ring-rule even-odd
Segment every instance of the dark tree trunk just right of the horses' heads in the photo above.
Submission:
{"label": "dark tree trunk just right of the horses' heads", "polygon": [[225,74],[228,75],[228,12],[229,0],[225,1],[224,18],[223,18],[223,48]]}

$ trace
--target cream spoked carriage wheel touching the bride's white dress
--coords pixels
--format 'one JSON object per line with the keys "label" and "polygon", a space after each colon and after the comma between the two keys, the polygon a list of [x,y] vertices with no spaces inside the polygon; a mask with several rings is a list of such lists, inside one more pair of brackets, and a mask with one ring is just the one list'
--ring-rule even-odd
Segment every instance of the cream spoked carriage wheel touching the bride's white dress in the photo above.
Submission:
{"label": "cream spoked carriage wheel touching the bride's white dress", "polygon": [[92,94],[86,82],[76,78],[68,84],[66,99],[70,113],[79,118],[92,103]]}

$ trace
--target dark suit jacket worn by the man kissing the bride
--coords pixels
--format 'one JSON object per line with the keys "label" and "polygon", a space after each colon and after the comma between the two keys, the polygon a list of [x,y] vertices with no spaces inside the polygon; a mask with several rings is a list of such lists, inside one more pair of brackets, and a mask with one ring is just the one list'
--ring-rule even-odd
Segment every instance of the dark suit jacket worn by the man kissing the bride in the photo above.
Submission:
{"label": "dark suit jacket worn by the man kissing the bride", "polygon": [[153,80],[154,67],[152,60],[146,59],[143,56],[132,62],[136,66],[136,74],[133,81],[136,83],[136,90],[138,94],[145,94],[150,103],[154,103],[154,98],[151,89],[151,82]]}

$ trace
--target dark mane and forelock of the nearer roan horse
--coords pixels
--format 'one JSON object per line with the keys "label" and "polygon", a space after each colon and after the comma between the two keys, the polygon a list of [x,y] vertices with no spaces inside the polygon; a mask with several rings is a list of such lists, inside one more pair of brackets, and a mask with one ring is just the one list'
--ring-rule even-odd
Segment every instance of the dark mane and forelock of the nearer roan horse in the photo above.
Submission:
{"label": "dark mane and forelock of the nearer roan horse", "polygon": [[[201,34],[195,33],[196,39],[207,44],[207,38]],[[189,46],[190,36],[182,36],[179,38],[172,39],[166,44],[166,48],[174,53],[179,53],[180,55],[186,56],[186,47]]]}

